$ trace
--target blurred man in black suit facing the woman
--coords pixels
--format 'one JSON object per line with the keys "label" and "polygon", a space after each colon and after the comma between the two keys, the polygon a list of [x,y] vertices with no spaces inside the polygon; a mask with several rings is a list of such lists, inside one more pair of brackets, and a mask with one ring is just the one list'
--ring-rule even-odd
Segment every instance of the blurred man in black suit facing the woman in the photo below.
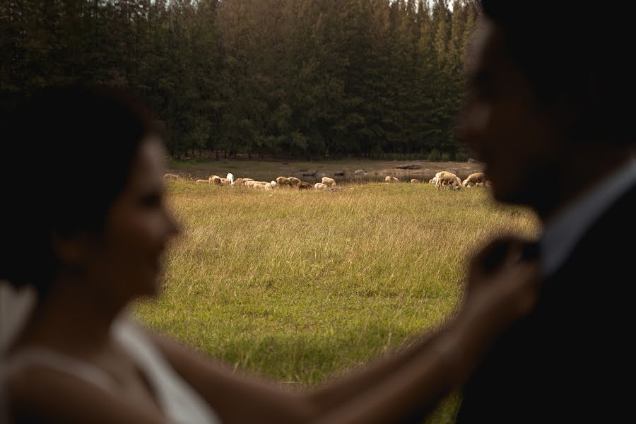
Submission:
{"label": "blurred man in black suit facing the woman", "polygon": [[625,422],[636,360],[633,15],[571,0],[481,4],[458,134],[495,199],[541,218],[543,281],[534,312],[464,387],[457,423]]}

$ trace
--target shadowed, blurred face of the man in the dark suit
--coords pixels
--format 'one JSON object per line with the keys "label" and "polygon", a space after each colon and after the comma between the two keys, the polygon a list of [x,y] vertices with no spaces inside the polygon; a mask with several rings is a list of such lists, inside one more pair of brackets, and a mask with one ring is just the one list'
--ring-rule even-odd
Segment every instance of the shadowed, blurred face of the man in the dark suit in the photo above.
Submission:
{"label": "shadowed, blurred face of the man in the dark suit", "polygon": [[503,30],[481,18],[468,63],[460,137],[485,163],[495,199],[538,206],[560,145],[550,117],[513,61]]}

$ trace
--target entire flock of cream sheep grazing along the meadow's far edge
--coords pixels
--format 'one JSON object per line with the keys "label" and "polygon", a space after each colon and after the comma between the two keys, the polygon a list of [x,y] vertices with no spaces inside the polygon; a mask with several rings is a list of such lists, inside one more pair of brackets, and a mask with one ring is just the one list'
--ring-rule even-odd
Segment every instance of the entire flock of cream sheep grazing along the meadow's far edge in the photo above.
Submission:
{"label": "entire flock of cream sheep grazing along the meadow's far edge", "polygon": [[[163,176],[164,179],[179,179],[179,177],[175,174],[166,174]],[[399,182],[400,180],[396,177],[391,177],[387,175],[384,178],[385,182]],[[262,189],[265,191],[273,190],[274,188],[281,187],[289,187],[296,188],[299,190],[304,189],[316,189],[316,190],[334,190],[336,187],[336,180],[330,177],[322,177],[322,182],[317,182],[316,184],[311,184],[309,182],[300,181],[300,179],[296,177],[278,177],[273,179],[271,182],[266,181],[256,181],[253,178],[234,178],[234,175],[231,173],[228,174],[225,178],[219,177],[218,175],[211,175],[208,179],[197,179],[197,183],[206,183],[206,184],[215,184],[215,185],[228,185],[230,187],[249,187],[253,189]],[[411,183],[420,182],[418,179],[411,179]],[[461,187],[490,187],[490,180],[486,178],[485,173],[483,172],[475,172],[469,175],[464,181],[461,181],[457,175],[454,175],[449,171],[440,171],[435,174],[435,177],[429,180],[430,184],[435,184],[435,188],[437,189],[456,189],[459,190]]]}

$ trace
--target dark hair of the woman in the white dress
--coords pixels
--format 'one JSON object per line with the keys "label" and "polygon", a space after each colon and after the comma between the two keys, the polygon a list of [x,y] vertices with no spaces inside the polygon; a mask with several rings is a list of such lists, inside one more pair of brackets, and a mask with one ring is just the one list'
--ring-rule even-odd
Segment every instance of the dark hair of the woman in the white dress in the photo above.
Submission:
{"label": "dark hair of the woman in the white dress", "polygon": [[0,279],[44,297],[59,267],[54,232],[99,233],[141,141],[158,133],[134,98],[107,88],[50,88],[4,129]]}

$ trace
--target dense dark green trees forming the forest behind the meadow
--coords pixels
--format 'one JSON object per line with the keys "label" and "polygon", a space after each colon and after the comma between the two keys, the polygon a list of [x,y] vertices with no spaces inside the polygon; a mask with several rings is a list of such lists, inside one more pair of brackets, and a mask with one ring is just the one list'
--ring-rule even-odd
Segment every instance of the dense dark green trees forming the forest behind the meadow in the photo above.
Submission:
{"label": "dense dark green trees forming the forest behind the meadow", "polygon": [[8,0],[0,106],[107,84],[146,99],[175,156],[461,158],[476,15],[474,0]]}

